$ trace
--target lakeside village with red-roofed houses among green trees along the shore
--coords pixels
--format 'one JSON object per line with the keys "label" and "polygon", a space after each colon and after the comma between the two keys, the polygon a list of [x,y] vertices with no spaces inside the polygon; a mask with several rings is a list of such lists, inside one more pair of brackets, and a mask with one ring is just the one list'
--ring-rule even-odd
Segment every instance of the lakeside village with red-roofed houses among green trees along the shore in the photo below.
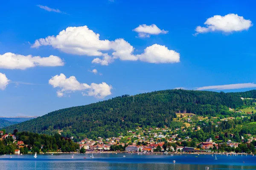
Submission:
{"label": "lakeside village with red-roofed houses among green trees along the shore", "polygon": [[[239,110],[241,109],[241,110]],[[20,153],[67,153],[67,152],[143,152],[143,153],[256,153],[256,107],[229,108],[230,115],[219,117],[199,116],[192,113],[177,113],[173,121],[182,122],[182,127],[137,127],[118,137],[74,140],[74,136],[63,137],[59,130],[54,140],[31,143],[31,134],[21,132],[18,140],[14,134],[0,131],[0,142],[8,147],[12,144],[15,154]],[[249,112],[250,111],[250,112]],[[245,123],[245,124],[244,124]],[[243,129],[249,125],[248,129]],[[250,131],[248,133],[248,130]],[[36,134],[36,133],[33,133]],[[36,134],[38,136],[38,134]],[[41,135],[41,138],[45,138]],[[54,137],[54,136],[53,136]],[[45,140],[45,139],[44,139]],[[47,140],[45,140],[47,141]],[[57,141],[57,142],[56,142]],[[61,142],[59,142],[61,141]],[[30,143],[29,143],[30,142]],[[64,147],[65,145],[65,147]],[[36,147],[36,149],[35,149]],[[26,148],[26,150],[24,149]],[[8,153],[7,151],[5,153]],[[9,153],[12,153],[10,151]]]}

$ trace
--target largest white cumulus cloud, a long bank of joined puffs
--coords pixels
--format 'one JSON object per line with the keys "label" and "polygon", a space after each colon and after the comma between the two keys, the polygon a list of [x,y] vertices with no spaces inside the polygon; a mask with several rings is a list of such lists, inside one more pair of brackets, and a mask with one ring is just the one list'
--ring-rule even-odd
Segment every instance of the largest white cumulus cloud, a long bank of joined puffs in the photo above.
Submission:
{"label": "largest white cumulus cloud, a long bank of joined puffs", "polygon": [[[163,33],[163,30],[160,30],[160,33],[161,32]],[[148,31],[148,34],[160,33],[157,33],[157,31]],[[51,45],[53,48],[57,48],[68,54],[97,56],[93,59],[92,63],[101,65],[109,65],[115,59],[130,61],[141,60],[152,63],[154,63],[154,61],[156,61],[156,63],[173,63],[177,61],[176,55],[179,56],[177,52],[157,44],[146,48],[143,54],[135,55],[134,47],[129,42],[122,38],[114,41],[100,40],[99,34],[94,33],[93,30],[90,30],[87,26],[68,27],[57,36],[48,36],[35,40],[32,47],[38,48],[42,45]],[[112,54],[108,54],[106,51],[113,52]],[[153,58],[150,59],[150,57]]]}

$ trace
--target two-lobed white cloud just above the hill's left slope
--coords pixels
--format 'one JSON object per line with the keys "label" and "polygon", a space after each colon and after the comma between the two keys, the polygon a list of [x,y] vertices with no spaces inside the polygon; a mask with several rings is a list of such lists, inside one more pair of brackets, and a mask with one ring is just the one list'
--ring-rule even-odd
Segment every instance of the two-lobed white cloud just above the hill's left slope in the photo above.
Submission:
{"label": "two-lobed white cloud just above the hill's left slope", "polygon": [[67,93],[82,91],[84,96],[94,96],[103,99],[106,96],[111,95],[112,89],[112,86],[105,82],[102,82],[101,84],[91,83],[91,85],[88,85],[86,83],[80,83],[74,76],[67,78],[62,73],[49,79],[49,84],[54,88],[58,88],[58,97],[62,97]]}

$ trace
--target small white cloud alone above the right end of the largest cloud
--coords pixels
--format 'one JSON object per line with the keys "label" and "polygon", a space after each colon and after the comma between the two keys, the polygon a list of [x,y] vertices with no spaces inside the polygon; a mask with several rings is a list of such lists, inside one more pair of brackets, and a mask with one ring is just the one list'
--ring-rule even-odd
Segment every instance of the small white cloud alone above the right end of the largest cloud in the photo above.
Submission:
{"label": "small white cloud alone above the right end of the largest cloud", "polygon": [[160,30],[155,24],[147,26],[146,24],[140,25],[137,28],[133,29],[139,33],[139,37],[150,37],[150,35],[157,35],[157,34],[167,34],[168,31]]}

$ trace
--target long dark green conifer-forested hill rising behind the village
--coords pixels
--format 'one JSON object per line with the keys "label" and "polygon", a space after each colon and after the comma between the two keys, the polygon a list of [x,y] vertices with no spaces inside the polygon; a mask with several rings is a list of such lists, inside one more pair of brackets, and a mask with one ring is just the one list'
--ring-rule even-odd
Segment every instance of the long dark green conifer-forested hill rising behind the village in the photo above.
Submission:
{"label": "long dark green conifer-forested hill rising behind the village", "polygon": [[36,119],[11,125],[6,131],[18,129],[50,133],[64,130],[90,138],[110,137],[138,126],[180,127],[180,122],[172,121],[176,117],[175,113],[215,116],[226,114],[228,107],[236,108],[241,105],[243,101],[236,93],[155,91],[135,96],[123,95],[90,105],[53,111]]}

